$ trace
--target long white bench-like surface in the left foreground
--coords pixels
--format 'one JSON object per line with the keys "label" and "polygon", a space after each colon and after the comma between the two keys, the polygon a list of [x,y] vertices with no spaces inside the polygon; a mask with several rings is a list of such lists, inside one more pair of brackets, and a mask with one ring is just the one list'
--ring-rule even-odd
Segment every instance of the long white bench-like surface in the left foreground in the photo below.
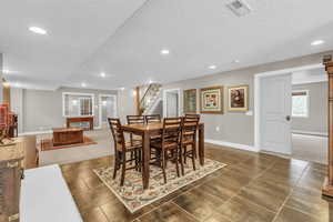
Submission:
{"label": "long white bench-like surface in the left foreground", "polygon": [[59,165],[24,171],[21,222],[82,222]]}

